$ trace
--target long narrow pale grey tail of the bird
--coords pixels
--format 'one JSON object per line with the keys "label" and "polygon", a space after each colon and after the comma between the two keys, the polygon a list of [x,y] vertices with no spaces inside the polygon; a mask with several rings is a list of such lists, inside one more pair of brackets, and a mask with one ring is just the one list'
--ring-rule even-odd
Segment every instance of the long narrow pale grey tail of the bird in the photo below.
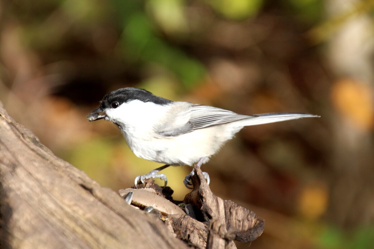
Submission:
{"label": "long narrow pale grey tail of the bird", "polygon": [[278,113],[263,113],[251,115],[248,119],[242,119],[238,121],[240,125],[258,125],[258,124],[268,124],[280,121],[286,121],[298,118],[319,118],[318,115],[313,115],[309,113],[292,113],[292,112],[278,112]]}

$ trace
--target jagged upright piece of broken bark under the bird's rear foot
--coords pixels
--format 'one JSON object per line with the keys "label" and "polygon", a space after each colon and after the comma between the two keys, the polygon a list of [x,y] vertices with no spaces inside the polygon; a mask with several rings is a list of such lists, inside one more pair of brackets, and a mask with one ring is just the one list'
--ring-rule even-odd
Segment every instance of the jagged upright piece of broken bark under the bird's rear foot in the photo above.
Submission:
{"label": "jagged upright piece of broken bark under the bird's rear foot", "polygon": [[215,196],[200,167],[194,167],[191,178],[193,190],[184,198],[184,203],[195,206],[202,213],[203,222],[209,226],[207,248],[226,248],[230,240],[251,242],[264,231],[265,222],[254,212],[231,200]]}

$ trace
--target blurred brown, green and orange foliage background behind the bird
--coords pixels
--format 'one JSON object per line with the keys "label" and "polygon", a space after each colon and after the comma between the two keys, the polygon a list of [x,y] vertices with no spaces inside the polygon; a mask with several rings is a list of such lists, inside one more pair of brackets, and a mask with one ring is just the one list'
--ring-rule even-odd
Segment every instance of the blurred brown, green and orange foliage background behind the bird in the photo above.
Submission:
{"label": "blurred brown, green and orange foliage background behind the bird", "polygon": [[[0,100],[114,191],[161,166],[86,120],[117,88],[321,115],[246,127],[203,170],[265,219],[251,248],[374,248],[373,34],[373,0],[3,0]],[[165,170],[174,199],[189,172]]]}

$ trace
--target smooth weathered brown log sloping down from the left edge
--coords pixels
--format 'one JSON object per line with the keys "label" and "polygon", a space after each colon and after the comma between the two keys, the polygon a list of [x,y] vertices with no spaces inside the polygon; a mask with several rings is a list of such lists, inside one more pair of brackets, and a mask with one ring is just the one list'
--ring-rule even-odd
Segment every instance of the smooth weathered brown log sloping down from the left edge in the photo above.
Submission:
{"label": "smooth weathered brown log sloping down from the left edge", "polygon": [[0,248],[187,248],[53,155],[0,103]]}

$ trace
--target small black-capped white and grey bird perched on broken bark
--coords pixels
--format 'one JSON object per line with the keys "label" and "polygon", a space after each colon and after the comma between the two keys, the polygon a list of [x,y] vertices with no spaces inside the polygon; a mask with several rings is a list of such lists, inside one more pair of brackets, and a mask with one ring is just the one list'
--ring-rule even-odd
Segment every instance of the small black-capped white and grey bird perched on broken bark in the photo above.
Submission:
{"label": "small black-capped white and grey bird perched on broken bark", "polygon": [[[104,96],[99,108],[87,115],[89,121],[105,119],[121,130],[132,152],[140,158],[165,164],[141,180],[160,178],[168,166],[201,166],[244,126],[298,118],[319,117],[308,113],[264,113],[241,115],[213,106],[164,99],[140,88],[121,88]],[[187,188],[194,171],[184,179]],[[209,175],[204,172],[209,184]]]}

